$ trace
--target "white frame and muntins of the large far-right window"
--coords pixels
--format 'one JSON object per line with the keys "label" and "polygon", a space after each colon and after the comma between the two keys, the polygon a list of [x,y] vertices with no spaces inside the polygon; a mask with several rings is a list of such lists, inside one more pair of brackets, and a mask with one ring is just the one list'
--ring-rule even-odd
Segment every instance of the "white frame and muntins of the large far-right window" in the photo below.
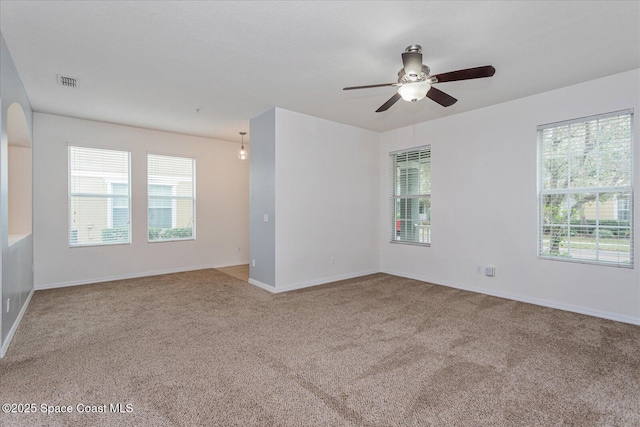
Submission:
{"label": "white frame and muntins of the large far-right window", "polygon": [[[628,163],[629,163],[629,185],[620,185],[620,186],[606,186],[606,185],[602,185],[602,183],[599,183],[599,185],[597,186],[584,186],[584,187],[572,187],[569,184],[569,181],[567,180],[567,186],[566,187],[562,187],[562,188],[551,188],[551,189],[544,189],[544,173],[543,173],[543,168],[544,168],[544,161],[545,159],[548,159],[549,157],[545,157],[544,153],[542,152],[542,145],[543,145],[543,131],[546,129],[556,129],[556,128],[561,128],[561,127],[565,127],[565,126],[571,126],[573,124],[579,124],[579,123],[587,123],[587,122],[594,122],[594,121],[600,121],[600,120],[604,120],[604,119],[609,119],[609,118],[613,118],[613,117],[624,117],[624,116],[629,116],[629,140],[626,141],[625,143],[628,142],[628,146],[629,146],[629,150],[628,152],[625,150],[625,153],[628,155]],[[599,123],[598,123],[599,125]],[[633,217],[634,217],[634,210],[633,210],[633,200],[634,200],[634,173],[635,173],[635,168],[634,168],[634,111],[633,109],[626,109],[626,110],[619,110],[619,111],[613,111],[613,112],[609,112],[609,113],[603,113],[603,114],[596,114],[596,115],[592,115],[592,116],[587,116],[587,117],[581,117],[581,118],[576,118],[576,119],[572,119],[572,120],[566,120],[566,121],[560,121],[560,122],[555,122],[555,123],[549,123],[549,124],[545,124],[545,125],[539,125],[536,127],[536,140],[537,140],[537,153],[536,153],[536,160],[537,160],[537,177],[536,177],[536,185],[537,185],[537,230],[536,230],[536,234],[537,234],[537,257],[538,259],[544,259],[544,260],[552,260],[552,261],[564,261],[564,262],[572,262],[572,263],[579,263],[579,264],[592,264],[592,265],[601,265],[601,266],[610,266],[610,267],[621,267],[621,268],[634,268],[634,233],[635,233],[635,228],[634,228],[634,222],[633,222]],[[596,142],[599,142],[599,140],[597,140]],[[599,175],[600,173],[600,167],[602,164],[602,153],[600,152],[600,145],[597,143],[596,144],[597,149],[595,149],[595,153],[597,153],[597,157],[595,158],[595,162],[596,162],[596,176]],[[606,152],[605,152],[606,153]],[[569,158],[569,162],[570,162],[570,155],[568,154],[567,157]],[[571,165],[570,163],[567,166],[568,169],[568,176],[571,176]],[[612,197],[610,198],[610,200],[612,200],[613,202],[613,210],[614,210],[614,218],[615,220],[617,220],[617,215],[616,215],[616,208],[617,208],[617,193],[628,193],[628,206],[629,206],[629,224],[628,226],[618,226],[618,230],[623,229],[623,228],[628,228],[628,232],[629,232],[629,261],[621,261],[618,259],[618,261],[607,261],[607,260],[603,260],[603,259],[589,259],[589,258],[571,258],[571,257],[567,257],[567,256],[562,256],[560,254],[558,255],[552,255],[550,253],[544,253],[544,227],[555,227],[555,226],[564,226],[563,224],[545,224],[544,222],[544,213],[543,213],[543,208],[544,208],[544,198],[545,196],[549,197],[549,196],[553,196],[553,195],[564,195],[565,197],[567,197],[567,207],[569,207],[570,205],[570,198],[572,197],[582,197],[582,196],[586,196],[588,194],[594,194],[596,196],[596,200],[595,202],[591,202],[591,203],[595,203],[595,215],[596,215],[596,219],[595,219],[595,224],[594,225],[589,225],[589,226],[575,226],[576,228],[590,228],[593,229],[595,235],[596,235],[596,240],[595,240],[595,251],[596,251],[596,257],[599,257],[600,255],[600,251],[603,250],[601,249],[601,243],[600,243],[600,231],[602,230],[606,230],[608,228],[616,228],[616,227],[609,227],[606,225],[600,225],[600,221],[607,221],[606,218],[601,218],[600,215],[600,205],[602,203],[606,203],[606,201],[600,201],[600,195],[602,194],[611,194]],[[567,212],[567,227],[568,227],[568,236],[569,236],[569,242],[570,242],[570,237],[571,237],[571,212],[568,211]],[[626,220],[625,220],[626,221]],[[606,238],[606,237],[604,237]],[[568,252],[570,254],[570,250]],[[618,252],[619,253],[619,252]]]}

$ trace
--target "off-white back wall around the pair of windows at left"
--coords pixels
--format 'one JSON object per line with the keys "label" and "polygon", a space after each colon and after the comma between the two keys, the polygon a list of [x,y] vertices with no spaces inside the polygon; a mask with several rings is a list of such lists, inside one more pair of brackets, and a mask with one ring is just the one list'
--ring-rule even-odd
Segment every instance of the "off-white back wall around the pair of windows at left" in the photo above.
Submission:
{"label": "off-white back wall around the pair of windows at left", "polygon": [[[131,152],[132,244],[68,247],[69,144]],[[248,262],[249,171],[237,143],[36,113],[33,147],[36,289]],[[196,240],[147,243],[147,152],[196,159]]]}

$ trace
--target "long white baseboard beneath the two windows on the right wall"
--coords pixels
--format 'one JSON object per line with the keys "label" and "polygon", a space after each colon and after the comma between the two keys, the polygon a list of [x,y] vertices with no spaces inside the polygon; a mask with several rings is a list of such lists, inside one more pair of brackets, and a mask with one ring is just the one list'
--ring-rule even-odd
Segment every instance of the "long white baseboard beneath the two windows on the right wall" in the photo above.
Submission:
{"label": "long white baseboard beneath the two windows on the right wall", "polygon": [[566,304],[558,304],[553,301],[548,301],[539,298],[531,298],[522,295],[510,294],[508,292],[490,291],[484,288],[478,288],[475,286],[462,285],[460,283],[453,283],[447,280],[431,279],[425,276],[418,276],[414,274],[400,273],[392,270],[382,270],[382,273],[391,274],[393,276],[406,277],[408,279],[420,280],[422,282],[433,283],[434,285],[447,286],[450,288],[461,289],[463,291],[470,291],[479,294],[491,295],[494,297],[510,299],[513,301],[525,302],[528,304],[540,305],[542,307],[556,308],[558,310],[570,311],[572,313],[584,314],[587,316],[600,317],[603,319],[615,320],[616,322],[630,323],[632,325],[640,326],[640,318],[621,316],[617,313],[611,313],[608,311],[592,310],[584,307],[577,307]]}

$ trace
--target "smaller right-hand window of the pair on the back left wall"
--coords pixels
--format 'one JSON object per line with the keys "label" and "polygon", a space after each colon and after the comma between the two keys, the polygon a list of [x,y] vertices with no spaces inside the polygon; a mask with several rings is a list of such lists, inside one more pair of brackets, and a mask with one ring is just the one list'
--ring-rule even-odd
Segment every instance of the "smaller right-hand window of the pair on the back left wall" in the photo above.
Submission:
{"label": "smaller right-hand window of the pair on the back left wall", "polygon": [[195,238],[195,160],[147,155],[150,242]]}

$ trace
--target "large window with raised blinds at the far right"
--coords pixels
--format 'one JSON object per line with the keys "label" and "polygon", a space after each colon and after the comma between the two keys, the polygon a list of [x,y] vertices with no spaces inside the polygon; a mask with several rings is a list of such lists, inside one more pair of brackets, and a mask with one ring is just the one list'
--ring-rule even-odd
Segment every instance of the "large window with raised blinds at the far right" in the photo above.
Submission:
{"label": "large window with raised blinds at the far right", "polygon": [[632,111],[538,126],[538,256],[633,266]]}

